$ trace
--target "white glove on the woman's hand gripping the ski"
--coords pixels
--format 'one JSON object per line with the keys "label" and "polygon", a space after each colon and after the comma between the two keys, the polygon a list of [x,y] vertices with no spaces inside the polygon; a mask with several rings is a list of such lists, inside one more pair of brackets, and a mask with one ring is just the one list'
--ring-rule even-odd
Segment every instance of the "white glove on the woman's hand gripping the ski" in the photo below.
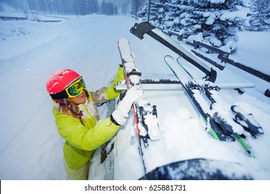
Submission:
{"label": "white glove on the woman's hand gripping the ski", "polygon": [[132,104],[143,96],[143,91],[140,89],[128,89],[123,100],[118,103],[118,106],[111,114],[112,120],[116,121],[119,125],[125,124]]}

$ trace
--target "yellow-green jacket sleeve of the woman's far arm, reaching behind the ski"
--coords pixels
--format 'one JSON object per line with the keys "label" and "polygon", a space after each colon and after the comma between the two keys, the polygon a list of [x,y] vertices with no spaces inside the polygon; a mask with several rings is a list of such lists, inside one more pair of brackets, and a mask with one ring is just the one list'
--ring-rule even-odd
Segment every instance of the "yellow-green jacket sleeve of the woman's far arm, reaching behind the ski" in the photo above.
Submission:
{"label": "yellow-green jacket sleeve of the woman's far arm, reaching behind the ski", "polygon": [[114,81],[111,82],[110,87],[102,87],[97,91],[90,92],[91,98],[93,98],[93,102],[96,105],[102,105],[102,103],[107,103],[108,100],[116,98],[121,93],[121,91],[115,90],[114,85],[122,80],[125,80],[125,74],[123,67],[119,67],[116,73],[116,77],[114,78]]}

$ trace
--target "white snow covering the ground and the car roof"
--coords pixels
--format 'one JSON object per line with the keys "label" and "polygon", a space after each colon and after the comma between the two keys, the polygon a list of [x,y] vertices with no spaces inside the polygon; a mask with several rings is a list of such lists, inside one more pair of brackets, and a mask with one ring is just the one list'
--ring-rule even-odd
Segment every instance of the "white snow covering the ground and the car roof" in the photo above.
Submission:
{"label": "white snow covering the ground and the car roof", "polygon": [[[64,140],[57,133],[52,114],[54,104],[46,91],[46,80],[54,71],[64,68],[77,71],[90,91],[108,85],[120,63],[118,39],[125,37],[143,77],[172,75],[163,57],[177,55],[147,35],[140,40],[129,33],[134,23],[131,17],[102,15],[70,17],[57,23],[0,21],[0,82],[10,86],[5,87],[3,91],[7,92],[0,97],[0,179],[67,179],[62,163]],[[233,57],[269,73],[269,35],[239,33],[238,51]],[[242,96],[231,89],[223,89],[219,94],[227,103],[252,112],[262,126],[264,134],[256,139],[245,133],[256,158],[247,156],[241,145],[216,141],[204,131],[183,90],[149,90],[145,96],[157,106],[162,131],[161,139],[152,142],[154,146],[145,153],[149,169],[203,157],[236,161],[253,179],[270,179],[270,98],[263,95],[269,83],[229,65],[218,71],[218,77],[221,84],[239,80],[255,84],[255,88],[246,89]],[[100,108],[101,115],[103,112],[105,106]],[[129,117],[127,127],[117,135],[116,179],[138,179],[142,175],[140,169],[134,168],[141,166],[141,161],[136,141],[131,137],[131,125],[132,117]],[[229,169],[227,173],[233,170],[237,172]],[[101,167],[96,172],[100,173],[96,179],[105,178]]]}

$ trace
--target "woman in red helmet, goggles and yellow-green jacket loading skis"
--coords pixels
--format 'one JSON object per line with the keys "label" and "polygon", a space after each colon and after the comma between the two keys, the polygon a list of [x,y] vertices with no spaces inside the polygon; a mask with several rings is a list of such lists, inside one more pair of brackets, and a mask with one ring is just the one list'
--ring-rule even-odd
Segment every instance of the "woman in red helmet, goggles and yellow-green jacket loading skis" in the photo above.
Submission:
{"label": "woman in red helmet, goggles and yellow-green jacket loading skis", "polygon": [[124,79],[123,68],[119,67],[110,87],[89,92],[82,76],[71,69],[62,69],[48,78],[46,89],[56,103],[55,123],[66,140],[64,166],[70,179],[88,179],[94,150],[125,124],[132,103],[143,95],[140,90],[129,89],[111,116],[100,120],[97,106],[116,98],[120,91],[114,90],[114,85]]}

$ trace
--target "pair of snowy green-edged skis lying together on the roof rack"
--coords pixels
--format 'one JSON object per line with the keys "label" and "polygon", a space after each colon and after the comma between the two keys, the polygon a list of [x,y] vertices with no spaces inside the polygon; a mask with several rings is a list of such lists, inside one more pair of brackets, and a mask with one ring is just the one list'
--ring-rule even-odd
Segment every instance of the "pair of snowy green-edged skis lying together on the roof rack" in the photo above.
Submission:
{"label": "pair of snowy green-edged skis lying together on the roof rack", "polygon": [[[191,73],[183,67],[183,65],[177,60],[174,61],[174,58],[170,55],[166,55],[165,63],[170,67],[172,72],[181,82],[183,89],[185,89],[186,93],[192,100],[192,103],[197,108],[201,118],[203,118],[206,123],[206,127],[213,135],[213,137],[220,141],[235,141],[236,139],[240,141],[243,148],[248,152],[251,157],[255,157],[249,146],[244,143],[242,139],[242,131],[241,129],[250,132],[253,136],[257,134],[263,134],[262,127],[255,121],[252,114],[244,113],[237,105],[231,106],[231,111],[234,114],[234,118],[231,120],[233,123],[237,123],[234,125],[227,116],[224,116],[222,112],[224,109],[215,111],[210,111],[208,107],[202,107],[203,103],[210,103],[210,109],[215,110],[215,107],[222,107],[217,100],[215,100],[211,94],[212,91],[219,91],[219,87],[215,85],[213,82],[206,81],[204,84],[197,82],[191,75]],[[189,78],[188,78],[189,77]],[[203,98],[201,98],[203,96]],[[202,100],[208,100],[208,102],[204,102]],[[214,112],[214,113],[213,113]],[[228,112],[226,112],[228,114]],[[240,126],[241,125],[241,126]],[[236,130],[237,128],[237,130]],[[237,132],[235,132],[235,130]]]}

